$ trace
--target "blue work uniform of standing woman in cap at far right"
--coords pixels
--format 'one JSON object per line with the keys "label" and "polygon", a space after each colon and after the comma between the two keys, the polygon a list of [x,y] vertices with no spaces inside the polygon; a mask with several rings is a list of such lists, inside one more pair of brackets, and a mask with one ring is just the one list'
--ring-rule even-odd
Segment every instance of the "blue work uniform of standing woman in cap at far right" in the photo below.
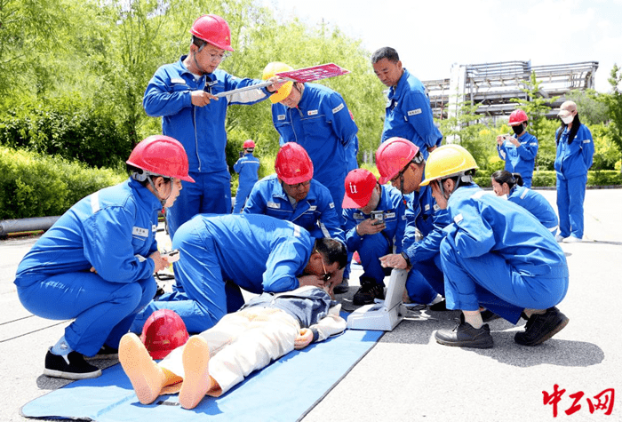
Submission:
{"label": "blue work uniform of standing woman in cap at far right", "polygon": [[[559,131],[562,131],[560,134]],[[560,217],[560,235],[583,237],[583,201],[586,199],[587,171],[594,159],[592,132],[585,124],[578,127],[577,135],[569,144],[568,127],[557,129],[557,213]]]}

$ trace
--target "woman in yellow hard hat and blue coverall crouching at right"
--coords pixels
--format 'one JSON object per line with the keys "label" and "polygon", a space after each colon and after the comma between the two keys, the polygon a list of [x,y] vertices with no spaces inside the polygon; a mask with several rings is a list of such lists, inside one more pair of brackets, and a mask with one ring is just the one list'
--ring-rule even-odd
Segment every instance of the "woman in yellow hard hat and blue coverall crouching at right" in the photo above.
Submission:
{"label": "woman in yellow hard hat and blue coverall crouching at right", "polygon": [[430,154],[426,179],[436,203],[449,211],[441,259],[447,307],[462,310],[454,330],[438,330],[446,346],[489,348],[490,328],[480,306],[505,306],[495,313],[516,323],[527,317],[514,341],[536,346],[562,330],[569,319],[557,307],[568,291],[568,265],[562,248],[522,207],[486,193],[473,183],[473,156],[458,145]]}

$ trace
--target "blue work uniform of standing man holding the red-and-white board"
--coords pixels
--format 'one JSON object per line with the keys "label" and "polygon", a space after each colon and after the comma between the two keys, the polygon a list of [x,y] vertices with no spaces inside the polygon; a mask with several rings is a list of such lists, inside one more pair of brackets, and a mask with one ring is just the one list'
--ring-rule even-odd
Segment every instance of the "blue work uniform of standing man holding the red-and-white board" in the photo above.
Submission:
{"label": "blue work uniform of standing man holding the red-and-white board", "polygon": [[195,214],[231,212],[231,175],[225,155],[227,107],[255,104],[267,99],[270,93],[266,88],[239,92],[196,107],[192,104],[193,91],[204,90],[216,95],[264,81],[240,79],[220,69],[195,76],[183,64],[186,57],[158,68],[142,100],[148,115],[162,116],[163,134],[181,142],[186,150],[190,177],[195,179],[195,183],[181,182],[183,190],[166,211],[171,237]]}

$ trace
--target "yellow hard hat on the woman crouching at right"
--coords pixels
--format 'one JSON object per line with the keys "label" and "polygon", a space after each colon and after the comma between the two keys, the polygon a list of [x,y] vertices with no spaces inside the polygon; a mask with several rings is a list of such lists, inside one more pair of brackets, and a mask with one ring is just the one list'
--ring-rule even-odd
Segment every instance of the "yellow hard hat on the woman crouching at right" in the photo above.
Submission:
{"label": "yellow hard hat on the woman crouching at right", "polygon": [[432,180],[460,176],[465,171],[477,169],[473,155],[455,144],[437,147],[427,157],[426,179],[419,186],[427,186]]}

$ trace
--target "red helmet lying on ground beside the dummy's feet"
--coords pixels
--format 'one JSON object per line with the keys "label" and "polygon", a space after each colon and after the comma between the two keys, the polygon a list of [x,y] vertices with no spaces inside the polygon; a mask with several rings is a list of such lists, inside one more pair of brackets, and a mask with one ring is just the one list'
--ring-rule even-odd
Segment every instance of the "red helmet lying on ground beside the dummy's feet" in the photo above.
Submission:
{"label": "red helmet lying on ground beside the dummy's feet", "polygon": [[158,309],[142,327],[140,341],[154,359],[163,359],[174,349],[186,344],[190,336],[186,324],[175,311]]}

